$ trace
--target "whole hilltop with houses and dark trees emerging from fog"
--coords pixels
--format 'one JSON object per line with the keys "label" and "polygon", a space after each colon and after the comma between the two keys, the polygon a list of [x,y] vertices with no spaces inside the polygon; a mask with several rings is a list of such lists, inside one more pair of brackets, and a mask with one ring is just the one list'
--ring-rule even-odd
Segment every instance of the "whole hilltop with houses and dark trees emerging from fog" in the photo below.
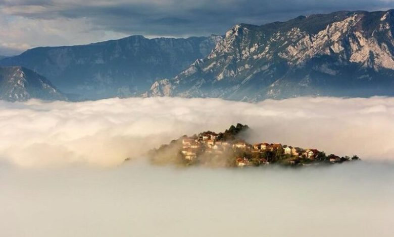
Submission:
{"label": "whole hilltop with houses and dark trees emerging from fog", "polygon": [[359,159],[358,156],[327,156],[317,149],[303,149],[279,143],[263,142],[252,145],[242,139],[242,135],[248,130],[247,125],[237,124],[224,133],[207,131],[191,137],[183,136],[169,145],[162,145],[151,151],[150,157],[154,163],[234,167],[332,164]]}

